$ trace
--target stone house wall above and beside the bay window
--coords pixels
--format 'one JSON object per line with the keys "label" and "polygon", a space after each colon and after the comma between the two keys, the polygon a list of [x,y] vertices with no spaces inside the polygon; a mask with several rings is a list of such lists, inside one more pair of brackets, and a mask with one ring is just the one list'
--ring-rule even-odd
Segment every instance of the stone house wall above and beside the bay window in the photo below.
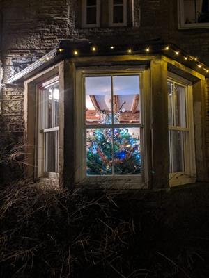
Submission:
{"label": "stone house wall above and beside the bay window", "polygon": [[[63,39],[110,44],[170,42],[209,65],[208,29],[179,30],[177,1],[134,0],[134,27],[120,28],[79,28],[77,0],[1,0],[0,8],[1,131],[23,131],[23,88],[7,85],[8,77],[58,47]],[[209,160],[208,91],[205,113]]]}

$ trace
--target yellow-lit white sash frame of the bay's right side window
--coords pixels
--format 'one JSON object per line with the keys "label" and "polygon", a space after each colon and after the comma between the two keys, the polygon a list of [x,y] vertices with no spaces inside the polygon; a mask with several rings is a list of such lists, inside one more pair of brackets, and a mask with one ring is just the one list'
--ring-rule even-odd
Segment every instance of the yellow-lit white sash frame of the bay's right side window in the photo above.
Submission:
{"label": "yellow-lit white sash frame of the bay's right side window", "polygon": [[[193,95],[192,82],[183,79],[176,74],[168,72],[168,81],[185,88],[185,109],[186,109],[186,127],[169,126],[170,131],[182,131],[183,135],[183,152],[184,172],[169,173],[169,185],[179,186],[196,181],[196,163],[195,163],[195,146],[194,146],[194,116],[193,116]],[[170,136],[169,136],[170,141]],[[170,149],[170,144],[169,144]],[[170,150],[169,150],[170,152]]]}

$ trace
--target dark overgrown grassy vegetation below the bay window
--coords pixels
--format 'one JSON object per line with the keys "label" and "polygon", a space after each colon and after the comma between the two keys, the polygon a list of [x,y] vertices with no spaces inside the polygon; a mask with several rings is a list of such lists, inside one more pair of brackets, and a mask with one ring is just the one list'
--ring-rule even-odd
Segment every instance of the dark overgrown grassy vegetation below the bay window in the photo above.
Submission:
{"label": "dark overgrown grassy vegetation below the bay window", "polygon": [[0,277],[209,277],[208,186],[89,193],[2,186]]}

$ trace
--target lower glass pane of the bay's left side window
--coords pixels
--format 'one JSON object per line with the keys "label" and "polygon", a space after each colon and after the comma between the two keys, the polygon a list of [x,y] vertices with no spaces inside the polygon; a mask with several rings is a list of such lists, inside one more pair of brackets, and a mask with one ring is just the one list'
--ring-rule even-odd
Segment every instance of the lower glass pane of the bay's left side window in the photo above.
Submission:
{"label": "lower glass pane of the bay's left side window", "polygon": [[58,172],[57,131],[45,133],[45,172]]}

